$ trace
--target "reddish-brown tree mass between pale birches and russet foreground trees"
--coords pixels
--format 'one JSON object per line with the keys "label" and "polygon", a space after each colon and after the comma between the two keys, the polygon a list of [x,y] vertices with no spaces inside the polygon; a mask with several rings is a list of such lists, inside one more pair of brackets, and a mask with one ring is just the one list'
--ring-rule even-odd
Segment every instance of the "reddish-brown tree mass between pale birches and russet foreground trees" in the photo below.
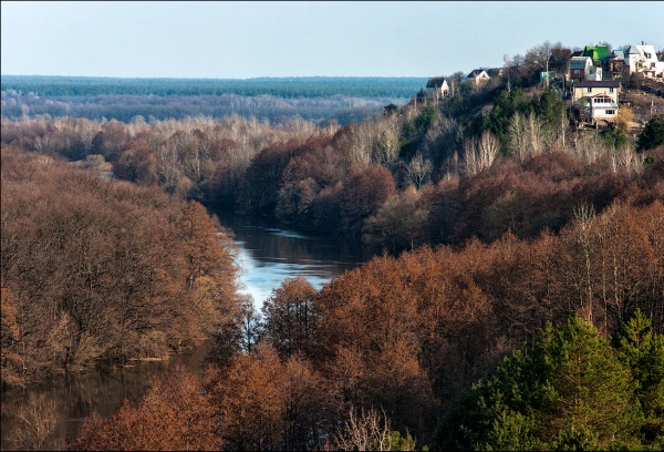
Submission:
{"label": "reddish-brown tree mass between pale birches and russet foreground trees", "polygon": [[432,239],[457,244],[473,236],[492,242],[508,230],[519,238],[536,237],[543,229],[558,232],[570,220],[571,206],[585,199],[598,210],[603,209],[624,183],[611,171],[562,152],[538,154],[522,163],[505,160],[479,174],[461,177],[453,192],[435,201],[464,208],[450,212],[435,205],[433,225],[449,226],[444,229],[446,236]]}

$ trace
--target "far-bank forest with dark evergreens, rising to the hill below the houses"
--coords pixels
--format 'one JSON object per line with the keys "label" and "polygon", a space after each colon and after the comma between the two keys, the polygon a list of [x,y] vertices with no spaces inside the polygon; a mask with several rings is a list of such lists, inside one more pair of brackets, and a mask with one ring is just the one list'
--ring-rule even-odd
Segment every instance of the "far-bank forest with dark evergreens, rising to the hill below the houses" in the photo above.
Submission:
{"label": "far-bank forest with dark evergreens, rising to the hill below the houses", "polygon": [[532,238],[560,230],[580,203],[600,213],[616,199],[661,196],[647,184],[657,177],[650,154],[662,143],[661,116],[631,143],[625,124],[574,130],[554,90],[489,93],[486,114],[473,112],[490,94],[459,90],[343,127],[238,115],[2,120],[2,142],[208,206],[362,238],[376,251],[508,230]]}

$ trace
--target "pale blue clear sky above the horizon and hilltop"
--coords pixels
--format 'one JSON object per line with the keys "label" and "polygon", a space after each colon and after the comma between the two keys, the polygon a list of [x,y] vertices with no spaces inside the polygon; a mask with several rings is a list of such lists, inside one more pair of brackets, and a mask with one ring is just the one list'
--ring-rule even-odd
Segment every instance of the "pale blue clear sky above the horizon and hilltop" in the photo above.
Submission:
{"label": "pale blue clear sky above the horizon and hilltop", "polygon": [[1,73],[433,76],[544,41],[664,48],[664,2],[2,1]]}

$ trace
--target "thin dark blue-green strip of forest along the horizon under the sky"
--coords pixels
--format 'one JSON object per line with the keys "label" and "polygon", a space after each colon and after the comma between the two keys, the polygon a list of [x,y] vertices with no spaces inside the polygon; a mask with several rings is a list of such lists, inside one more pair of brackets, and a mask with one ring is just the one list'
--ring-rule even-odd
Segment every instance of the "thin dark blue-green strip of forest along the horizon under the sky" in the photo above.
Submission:
{"label": "thin dark blue-green strip of forest along the horizon under the sky", "polygon": [[122,79],[96,76],[2,75],[2,91],[40,96],[79,95],[273,95],[283,99],[409,97],[424,88],[423,78],[257,78],[257,79]]}

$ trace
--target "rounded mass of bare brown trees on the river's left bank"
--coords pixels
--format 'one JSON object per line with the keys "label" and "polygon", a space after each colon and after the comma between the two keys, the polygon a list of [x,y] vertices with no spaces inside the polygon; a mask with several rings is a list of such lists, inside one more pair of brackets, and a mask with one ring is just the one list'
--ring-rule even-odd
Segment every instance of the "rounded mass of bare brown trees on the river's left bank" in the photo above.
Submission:
{"label": "rounded mass of bare brown trees on the river's left bank", "polygon": [[32,381],[162,357],[232,315],[231,251],[200,205],[43,154],[1,152],[3,321],[17,327],[3,337],[13,362],[3,383],[17,362]]}

